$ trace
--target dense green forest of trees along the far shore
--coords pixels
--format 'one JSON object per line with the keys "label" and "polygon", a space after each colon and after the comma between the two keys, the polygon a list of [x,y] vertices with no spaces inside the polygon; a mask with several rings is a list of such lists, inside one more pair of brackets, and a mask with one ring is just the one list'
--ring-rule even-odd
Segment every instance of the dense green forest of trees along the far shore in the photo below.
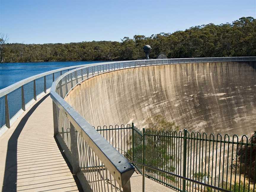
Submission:
{"label": "dense green forest of trees along the far shore", "polygon": [[145,44],[152,48],[150,58],[156,58],[161,52],[168,58],[255,56],[256,19],[241,17],[232,24],[210,23],[150,37],[135,35],[133,39],[124,37],[121,42],[6,43],[2,49],[2,57],[3,62],[136,60],[145,58]]}

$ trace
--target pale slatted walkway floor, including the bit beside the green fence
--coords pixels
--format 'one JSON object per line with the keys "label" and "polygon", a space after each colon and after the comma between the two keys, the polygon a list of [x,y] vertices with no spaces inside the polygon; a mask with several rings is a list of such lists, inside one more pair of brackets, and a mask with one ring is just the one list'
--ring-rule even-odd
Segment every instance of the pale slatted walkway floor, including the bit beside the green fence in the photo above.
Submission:
{"label": "pale slatted walkway floor, including the bit beside the green fence", "polygon": [[[53,137],[49,95],[20,117],[0,137],[0,191],[79,191]],[[142,175],[131,177],[132,191],[142,191]],[[145,178],[145,191],[173,191]]]}

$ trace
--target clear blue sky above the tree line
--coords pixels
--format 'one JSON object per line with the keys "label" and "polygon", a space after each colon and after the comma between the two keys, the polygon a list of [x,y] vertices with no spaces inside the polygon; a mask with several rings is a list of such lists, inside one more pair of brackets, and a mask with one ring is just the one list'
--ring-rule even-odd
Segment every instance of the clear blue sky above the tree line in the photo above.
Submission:
{"label": "clear blue sky above the tree line", "polygon": [[256,0],[0,0],[0,32],[9,43],[121,41],[252,16]]}

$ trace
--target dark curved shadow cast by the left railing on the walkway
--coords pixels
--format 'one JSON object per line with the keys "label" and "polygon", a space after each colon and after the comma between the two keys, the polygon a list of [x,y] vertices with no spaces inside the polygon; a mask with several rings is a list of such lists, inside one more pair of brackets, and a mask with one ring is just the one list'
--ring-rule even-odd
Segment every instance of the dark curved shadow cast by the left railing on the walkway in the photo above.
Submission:
{"label": "dark curved shadow cast by the left railing on the walkway", "polygon": [[[15,131],[13,132],[12,136],[8,141],[2,192],[17,191],[17,140],[26,122],[28,121],[28,118],[48,96],[49,94],[41,98],[25,114],[25,116],[21,119],[20,123],[17,125],[17,128],[15,129]],[[11,128],[11,129],[14,129],[14,128]]]}

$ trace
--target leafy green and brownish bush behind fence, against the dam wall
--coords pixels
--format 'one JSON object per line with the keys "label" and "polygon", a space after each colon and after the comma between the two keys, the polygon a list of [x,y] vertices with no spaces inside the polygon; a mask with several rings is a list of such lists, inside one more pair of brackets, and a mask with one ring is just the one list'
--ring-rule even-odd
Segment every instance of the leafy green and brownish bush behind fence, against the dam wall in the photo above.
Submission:
{"label": "leafy green and brownish bush behind fence, against the dam wall", "polygon": [[[172,148],[172,143],[167,140],[170,135],[170,131],[176,131],[178,126],[174,122],[167,121],[163,116],[156,115],[148,118],[146,120],[148,123],[148,128],[145,130],[145,158],[143,162],[143,136],[140,130],[135,128],[134,131],[134,148],[128,150],[126,157],[131,159],[134,155],[135,159],[133,161],[144,163],[145,165],[155,167],[160,170],[167,172],[174,172],[175,167],[172,166],[172,153],[170,153]],[[140,166],[137,166],[140,169]],[[145,168],[148,175],[157,174],[163,176],[169,180],[175,181],[175,177],[171,175],[157,172],[150,168]]]}

